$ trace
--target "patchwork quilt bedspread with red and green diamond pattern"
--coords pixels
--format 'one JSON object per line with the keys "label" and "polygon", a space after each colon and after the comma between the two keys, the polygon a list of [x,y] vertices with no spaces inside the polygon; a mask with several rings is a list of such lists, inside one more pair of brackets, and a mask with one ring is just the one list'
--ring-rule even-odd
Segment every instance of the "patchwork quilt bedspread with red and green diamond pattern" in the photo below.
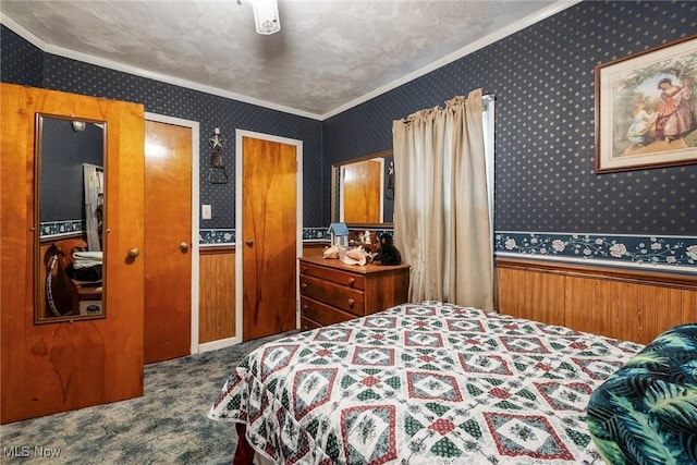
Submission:
{"label": "patchwork quilt bedspread with red and green diamond pattern", "polygon": [[268,343],[209,412],[279,464],[601,464],[591,391],[641,346],[451,304]]}

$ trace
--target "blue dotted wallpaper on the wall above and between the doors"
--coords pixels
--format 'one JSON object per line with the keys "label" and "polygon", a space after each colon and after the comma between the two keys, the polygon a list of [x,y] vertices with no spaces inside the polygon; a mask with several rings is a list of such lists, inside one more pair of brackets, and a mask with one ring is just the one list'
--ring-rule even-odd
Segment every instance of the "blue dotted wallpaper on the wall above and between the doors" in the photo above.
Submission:
{"label": "blue dotted wallpaper on the wall above and between the doors", "polygon": [[[96,66],[40,51],[2,26],[3,82],[24,84],[73,94],[139,102],[145,111],[198,121],[200,127],[200,204],[212,206],[212,218],[200,220],[200,229],[230,229],[235,225],[235,130],[246,130],[303,140],[304,227],[325,227],[322,196],[321,122],[277,110],[232,100],[159,81]],[[25,56],[39,54],[42,66],[27,68]],[[37,61],[37,60],[34,60]],[[38,77],[37,75],[38,74]],[[207,140],[216,127],[228,140],[223,149],[228,184],[207,181],[210,148]]]}

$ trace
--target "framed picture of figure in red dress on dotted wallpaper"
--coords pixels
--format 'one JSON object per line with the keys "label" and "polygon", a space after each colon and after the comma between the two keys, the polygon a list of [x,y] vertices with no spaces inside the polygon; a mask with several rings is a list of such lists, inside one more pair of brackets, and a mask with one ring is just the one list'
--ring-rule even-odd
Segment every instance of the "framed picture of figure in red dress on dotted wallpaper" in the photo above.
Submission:
{"label": "framed picture of figure in red dress on dotted wallpaper", "polygon": [[596,66],[596,173],[697,163],[697,35]]}

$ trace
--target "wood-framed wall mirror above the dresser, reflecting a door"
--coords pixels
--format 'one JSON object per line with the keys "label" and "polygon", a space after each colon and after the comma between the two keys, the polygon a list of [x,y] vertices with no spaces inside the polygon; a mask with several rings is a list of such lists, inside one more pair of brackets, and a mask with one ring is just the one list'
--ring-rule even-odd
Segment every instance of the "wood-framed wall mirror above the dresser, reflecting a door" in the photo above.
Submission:
{"label": "wood-framed wall mirror above the dresser, reflecting a door", "polygon": [[392,150],[332,164],[332,222],[344,222],[350,227],[391,227],[394,174]]}

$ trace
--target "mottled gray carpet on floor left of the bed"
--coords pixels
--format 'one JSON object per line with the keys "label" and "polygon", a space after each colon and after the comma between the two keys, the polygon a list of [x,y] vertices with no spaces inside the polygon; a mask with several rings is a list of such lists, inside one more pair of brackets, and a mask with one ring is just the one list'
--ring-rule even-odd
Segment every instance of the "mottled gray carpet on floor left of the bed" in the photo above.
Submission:
{"label": "mottled gray carpet on floor left of the bed", "polygon": [[0,463],[230,464],[235,426],[208,409],[244,355],[288,334],[148,365],[143,397],[2,425]]}

